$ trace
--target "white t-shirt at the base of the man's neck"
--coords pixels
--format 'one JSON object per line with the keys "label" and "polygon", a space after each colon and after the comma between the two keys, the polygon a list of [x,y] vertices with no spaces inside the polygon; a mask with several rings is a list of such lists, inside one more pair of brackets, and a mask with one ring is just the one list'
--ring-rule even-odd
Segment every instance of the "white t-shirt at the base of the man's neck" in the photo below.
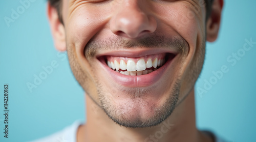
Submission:
{"label": "white t-shirt at the base of the man's neck", "polygon": [[[64,128],[59,132],[30,142],[76,142],[76,132],[78,127],[82,124],[82,121],[75,121],[72,125]],[[215,139],[216,142],[225,142],[217,136],[215,136]]]}

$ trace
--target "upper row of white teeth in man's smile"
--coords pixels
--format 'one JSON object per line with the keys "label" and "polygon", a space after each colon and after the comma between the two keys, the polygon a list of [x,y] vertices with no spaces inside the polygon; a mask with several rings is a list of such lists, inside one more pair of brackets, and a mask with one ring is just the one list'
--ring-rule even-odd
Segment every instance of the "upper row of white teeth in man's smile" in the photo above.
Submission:
{"label": "upper row of white teeth in man's smile", "polygon": [[139,61],[137,61],[137,63],[135,63],[133,60],[129,59],[127,61],[127,63],[124,62],[124,60],[120,60],[120,63],[116,60],[114,60],[113,62],[108,61],[108,66],[110,68],[112,68],[113,70],[127,70],[127,71],[143,71],[146,68],[157,68],[157,66],[162,66],[164,63],[164,59],[155,59],[152,62],[152,59],[148,59],[147,62],[144,61],[144,59],[140,59]]}

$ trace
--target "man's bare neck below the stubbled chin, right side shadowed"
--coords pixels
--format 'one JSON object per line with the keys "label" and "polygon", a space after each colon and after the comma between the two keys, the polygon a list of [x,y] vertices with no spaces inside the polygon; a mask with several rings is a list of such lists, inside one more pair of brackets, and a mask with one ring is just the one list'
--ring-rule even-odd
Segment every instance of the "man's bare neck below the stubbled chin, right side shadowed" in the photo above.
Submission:
{"label": "man's bare neck below the stubbled chin, right side shadowed", "polygon": [[172,115],[151,128],[125,128],[113,122],[105,112],[86,95],[87,124],[79,127],[78,142],[87,141],[212,141],[198,131],[195,117],[194,90],[175,108]]}

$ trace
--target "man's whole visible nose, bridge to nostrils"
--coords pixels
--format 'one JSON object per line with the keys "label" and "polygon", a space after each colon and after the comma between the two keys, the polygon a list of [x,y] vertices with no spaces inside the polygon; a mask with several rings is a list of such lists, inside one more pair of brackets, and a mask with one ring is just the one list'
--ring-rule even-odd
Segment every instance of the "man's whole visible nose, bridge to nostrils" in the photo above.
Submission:
{"label": "man's whole visible nose, bridge to nostrils", "polygon": [[156,19],[146,12],[148,8],[146,8],[146,2],[143,2],[141,0],[119,1],[115,5],[117,9],[110,21],[112,33],[126,38],[139,38],[155,32]]}

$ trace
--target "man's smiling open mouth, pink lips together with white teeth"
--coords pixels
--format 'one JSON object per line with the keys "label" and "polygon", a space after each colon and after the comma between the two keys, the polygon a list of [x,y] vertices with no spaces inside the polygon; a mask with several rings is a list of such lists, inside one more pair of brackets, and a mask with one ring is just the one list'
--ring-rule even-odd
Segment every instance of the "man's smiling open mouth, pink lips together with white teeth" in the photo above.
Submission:
{"label": "man's smiling open mouth, pink lips together with white teeth", "polygon": [[175,52],[147,50],[98,55],[102,71],[125,87],[148,87],[158,82],[175,58]]}

